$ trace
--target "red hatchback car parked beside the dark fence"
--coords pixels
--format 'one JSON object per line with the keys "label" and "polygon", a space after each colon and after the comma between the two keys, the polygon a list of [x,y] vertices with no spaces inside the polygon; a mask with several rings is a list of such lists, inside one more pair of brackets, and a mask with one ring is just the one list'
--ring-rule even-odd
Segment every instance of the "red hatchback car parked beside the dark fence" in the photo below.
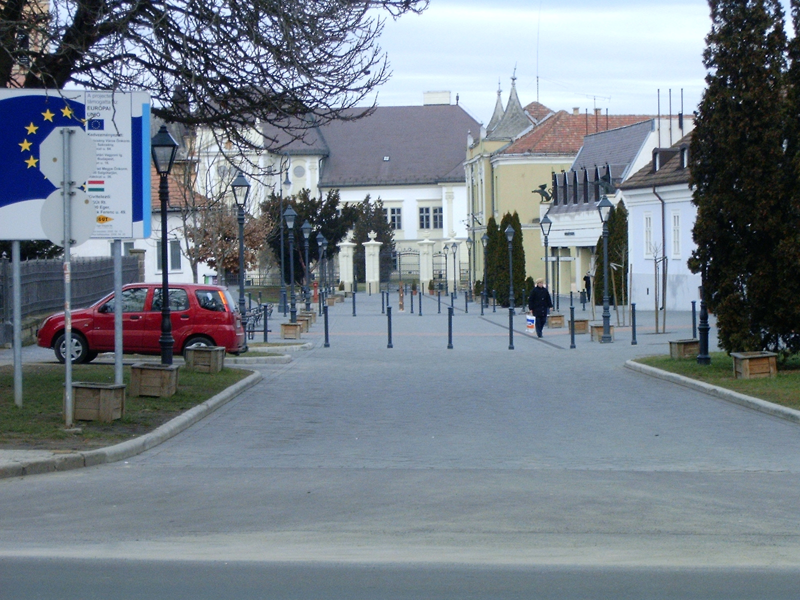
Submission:
{"label": "red hatchback car parked beside the dark fence", "polygon": [[[122,287],[122,351],[161,354],[161,284],[130,283]],[[219,286],[170,284],[174,352],[186,346],[225,346],[238,354],[246,349],[238,306]],[[72,362],[90,362],[99,352],[114,352],[114,294],[89,308],[72,311]],[[64,362],[64,313],[50,315],[38,330],[38,345],[53,348]]]}

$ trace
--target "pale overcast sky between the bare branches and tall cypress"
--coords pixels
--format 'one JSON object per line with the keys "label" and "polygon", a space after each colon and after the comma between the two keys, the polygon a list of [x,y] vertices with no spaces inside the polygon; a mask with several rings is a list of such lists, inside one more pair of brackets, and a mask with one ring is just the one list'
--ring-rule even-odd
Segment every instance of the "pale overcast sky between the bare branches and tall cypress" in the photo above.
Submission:
{"label": "pale overcast sky between the bare branches and tall cypress", "polygon": [[524,106],[594,106],[610,114],[695,110],[705,86],[705,0],[430,0],[422,15],[386,21],[381,45],[393,76],[382,106],[418,105],[422,92],[450,90],[478,121],[503,102],[517,67]]}

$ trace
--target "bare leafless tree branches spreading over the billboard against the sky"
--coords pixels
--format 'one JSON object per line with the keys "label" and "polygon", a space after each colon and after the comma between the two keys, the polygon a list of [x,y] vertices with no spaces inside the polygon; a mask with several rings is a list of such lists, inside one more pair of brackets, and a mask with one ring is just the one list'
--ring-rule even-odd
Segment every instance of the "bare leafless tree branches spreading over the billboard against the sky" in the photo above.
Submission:
{"label": "bare leafless tree branches spreading over the billboard against the sky", "polygon": [[[239,149],[357,118],[389,78],[384,14],[427,0],[0,0],[0,85],[146,90],[166,122]],[[262,127],[256,130],[261,131]]]}

